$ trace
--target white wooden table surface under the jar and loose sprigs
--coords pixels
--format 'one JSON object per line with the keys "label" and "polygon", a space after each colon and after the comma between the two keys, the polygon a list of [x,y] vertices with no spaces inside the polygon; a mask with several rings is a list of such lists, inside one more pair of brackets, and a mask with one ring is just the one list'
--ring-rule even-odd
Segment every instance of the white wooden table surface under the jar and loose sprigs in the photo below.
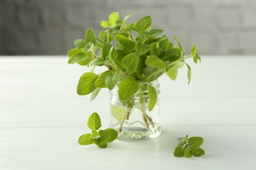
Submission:
{"label": "white wooden table surface under the jar and loose sprigs", "polygon": [[[110,122],[109,95],[76,94],[88,71],[66,56],[0,57],[0,169],[255,169],[256,56],[203,56],[175,82],[160,78],[160,121],[154,141],[80,146],[87,118]],[[101,71],[101,70],[96,70]],[[175,158],[177,138],[202,136],[202,158]]]}

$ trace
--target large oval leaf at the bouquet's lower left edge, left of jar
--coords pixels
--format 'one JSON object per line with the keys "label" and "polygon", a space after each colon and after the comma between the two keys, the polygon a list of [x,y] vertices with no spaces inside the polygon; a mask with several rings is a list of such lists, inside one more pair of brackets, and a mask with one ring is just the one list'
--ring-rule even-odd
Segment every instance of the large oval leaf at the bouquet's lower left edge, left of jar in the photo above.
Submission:
{"label": "large oval leaf at the bouquet's lower left edge, left of jar", "polygon": [[84,73],[77,84],[77,93],[79,95],[87,95],[93,92],[95,90],[94,83],[97,76],[95,73]]}

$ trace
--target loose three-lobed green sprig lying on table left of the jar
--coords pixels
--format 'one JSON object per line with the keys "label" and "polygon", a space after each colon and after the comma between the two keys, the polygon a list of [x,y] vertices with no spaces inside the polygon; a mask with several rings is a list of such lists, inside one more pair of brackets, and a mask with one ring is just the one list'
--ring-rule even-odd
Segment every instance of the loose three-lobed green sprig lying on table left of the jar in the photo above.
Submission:
{"label": "loose three-lobed green sprig lying on table left of the jar", "polygon": [[106,148],[108,143],[112,143],[117,138],[117,131],[115,129],[104,129],[97,131],[101,127],[100,116],[96,112],[91,114],[87,122],[88,127],[92,130],[91,133],[81,135],[78,143],[81,145],[88,145],[95,143],[100,148]]}

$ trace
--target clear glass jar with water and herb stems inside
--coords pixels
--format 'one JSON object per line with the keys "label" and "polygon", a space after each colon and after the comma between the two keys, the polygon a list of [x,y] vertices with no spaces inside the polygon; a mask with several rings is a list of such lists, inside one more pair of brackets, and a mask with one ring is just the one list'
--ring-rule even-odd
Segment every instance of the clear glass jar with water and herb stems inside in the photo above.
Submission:
{"label": "clear glass jar with water and herb stems inside", "polygon": [[110,126],[118,131],[118,139],[122,141],[146,141],[158,137],[161,133],[159,124],[158,80],[150,83],[156,88],[157,100],[153,110],[148,110],[148,84],[140,83],[140,88],[129,100],[118,97],[118,84],[110,90]]}

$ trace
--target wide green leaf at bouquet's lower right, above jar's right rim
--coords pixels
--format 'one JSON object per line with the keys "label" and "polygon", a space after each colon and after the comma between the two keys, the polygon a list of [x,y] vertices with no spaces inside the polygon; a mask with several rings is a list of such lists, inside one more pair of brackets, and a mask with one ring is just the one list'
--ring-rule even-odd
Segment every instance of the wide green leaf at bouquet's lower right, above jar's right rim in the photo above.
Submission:
{"label": "wide green leaf at bouquet's lower right, above jar's right rim", "polygon": [[165,69],[158,69],[157,67],[148,66],[143,69],[144,81],[145,82],[152,82],[159,78],[161,75],[165,73]]}

